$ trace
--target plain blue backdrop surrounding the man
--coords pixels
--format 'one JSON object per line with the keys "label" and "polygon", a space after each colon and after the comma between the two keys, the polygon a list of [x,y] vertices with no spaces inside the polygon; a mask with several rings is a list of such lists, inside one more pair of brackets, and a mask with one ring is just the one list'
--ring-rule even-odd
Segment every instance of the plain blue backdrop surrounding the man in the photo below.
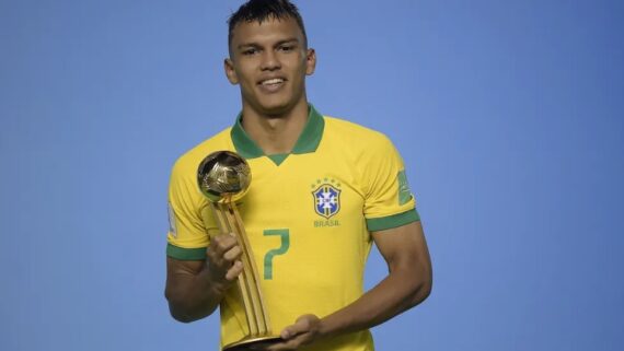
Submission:
{"label": "plain blue backdrop surrounding the man", "polygon": [[[215,350],[163,297],[241,1],[0,1],[0,349]],[[620,350],[622,1],[299,1],[324,114],[401,150],[435,267],[378,350]],[[367,286],[385,274],[379,254]]]}

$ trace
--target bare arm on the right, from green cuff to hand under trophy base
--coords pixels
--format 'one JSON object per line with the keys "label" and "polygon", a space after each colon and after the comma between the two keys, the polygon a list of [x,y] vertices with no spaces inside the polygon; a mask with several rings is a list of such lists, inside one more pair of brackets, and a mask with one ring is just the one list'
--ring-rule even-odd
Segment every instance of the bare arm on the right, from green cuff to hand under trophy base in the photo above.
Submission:
{"label": "bare arm on the right, from green cuff to hand under trophy base", "polygon": [[389,274],[353,304],[319,319],[301,316],[285,328],[284,343],[269,350],[296,350],[314,340],[368,329],[416,306],[429,295],[431,261],[420,222],[372,233]]}

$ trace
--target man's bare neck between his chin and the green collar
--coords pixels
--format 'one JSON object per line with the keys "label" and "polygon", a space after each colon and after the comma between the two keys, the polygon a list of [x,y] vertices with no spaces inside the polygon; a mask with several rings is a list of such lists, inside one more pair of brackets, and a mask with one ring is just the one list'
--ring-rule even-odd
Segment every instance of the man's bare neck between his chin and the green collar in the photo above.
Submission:
{"label": "man's bare neck between his chin and the green collar", "polygon": [[307,121],[305,98],[279,115],[262,114],[243,104],[243,129],[267,155],[290,153]]}

